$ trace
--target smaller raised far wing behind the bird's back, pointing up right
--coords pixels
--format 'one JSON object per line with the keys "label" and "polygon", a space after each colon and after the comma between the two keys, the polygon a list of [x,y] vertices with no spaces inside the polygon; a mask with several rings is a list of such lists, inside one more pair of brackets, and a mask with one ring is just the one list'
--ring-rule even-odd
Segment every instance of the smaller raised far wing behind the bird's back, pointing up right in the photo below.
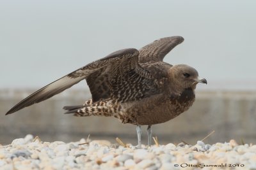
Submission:
{"label": "smaller raised far wing behind the bird's back, pointing up right", "polygon": [[156,41],[143,46],[139,50],[139,62],[145,63],[150,61],[163,61],[164,56],[183,41],[184,38],[181,36],[171,36],[157,39]]}

